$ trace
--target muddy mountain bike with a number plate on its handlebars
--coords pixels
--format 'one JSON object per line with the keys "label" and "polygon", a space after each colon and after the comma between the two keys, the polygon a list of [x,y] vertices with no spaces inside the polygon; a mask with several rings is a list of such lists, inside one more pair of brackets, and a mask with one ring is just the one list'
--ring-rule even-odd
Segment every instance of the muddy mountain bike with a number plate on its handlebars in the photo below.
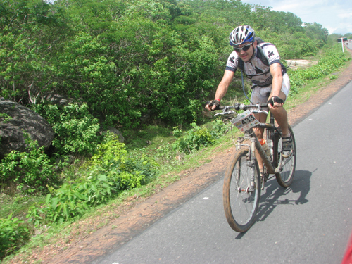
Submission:
{"label": "muddy mountain bike with a number plate on its handlebars", "polygon": [[[275,175],[280,186],[287,188],[294,180],[296,169],[296,142],[294,132],[289,126],[291,134],[291,151],[282,151],[282,132],[275,126],[275,119],[270,114],[269,123],[260,123],[254,113],[266,113],[262,110],[265,104],[244,105],[235,103],[234,106],[222,107],[222,113],[215,115],[233,115],[235,111],[243,113],[231,120],[244,137],[237,138],[234,158],[225,172],[223,186],[223,203],[225,215],[230,227],[237,232],[246,232],[256,220],[260,201],[260,190],[264,189],[269,175]],[[234,109],[235,111],[233,111]],[[270,156],[260,145],[253,128],[264,128],[264,138],[270,149]],[[255,151],[263,159],[263,173],[260,174]]]}

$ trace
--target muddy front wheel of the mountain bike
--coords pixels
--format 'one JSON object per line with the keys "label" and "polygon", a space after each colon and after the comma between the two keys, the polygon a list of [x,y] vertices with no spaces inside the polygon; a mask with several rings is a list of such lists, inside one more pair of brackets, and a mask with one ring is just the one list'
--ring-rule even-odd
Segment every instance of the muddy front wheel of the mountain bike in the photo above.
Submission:
{"label": "muddy front wheel of the mountain bike", "polygon": [[225,172],[223,187],[225,215],[230,227],[246,232],[256,220],[260,200],[258,162],[251,165],[249,149],[239,149]]}

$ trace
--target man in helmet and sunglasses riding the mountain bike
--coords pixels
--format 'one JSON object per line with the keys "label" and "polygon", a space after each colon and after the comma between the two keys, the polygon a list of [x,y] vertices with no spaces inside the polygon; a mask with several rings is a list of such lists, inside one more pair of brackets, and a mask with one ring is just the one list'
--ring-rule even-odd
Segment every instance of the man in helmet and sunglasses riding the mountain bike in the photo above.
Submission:
{"label": "man in helmet and sunglasses riding the mountain bike", "polygon": [[[282,151],[291,151],[291,135],[287,122],[287,112],[283,108],[289,94],[290,84],[286,68],[280,63],[279,53],[271,43],[265,43],[256,38],[254,30],[249,25],[236,27],[230,33],[230,45],[234,51],[227,59],[224,76],[215,93],[215,99],[206,104],[208,111],[214,111],[220,106],[220,100],[225,96],[232,82],[234,73],[239,68],[251,79],[251,101],[253,103],[270,103],[270,111],[282,130]],[[267,115],[257,113],[260,122],[266,122]],[[255,130],[258,139],[263,138],[263,128]],[[263,161],[256,155],[261,174]]]}

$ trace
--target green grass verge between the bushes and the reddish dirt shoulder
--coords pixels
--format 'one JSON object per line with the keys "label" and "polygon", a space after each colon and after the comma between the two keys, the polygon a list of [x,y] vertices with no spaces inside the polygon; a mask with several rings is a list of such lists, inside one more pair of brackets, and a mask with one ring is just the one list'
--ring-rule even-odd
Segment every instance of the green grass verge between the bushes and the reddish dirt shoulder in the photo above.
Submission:
{"label": "green grass verge between the bushes and the reddish dirt shoulder", "polygon": [[[312,58],[310,58],[310,60],[312,60]],[[346,63],[344,67],[340,68],[339,73],[348,67],[348,65],[349,63]],[[339,76],[339,74],[334,76]],[[320,89],[331,83],[333,78],[334,77],[330,75],[319,80],[313,80],[306,86],[300,87],[297,94],[288,97],[285,108],[289,111],[289,109],[307,101]],[[250,89],[250,86],[250,82],[246,81],[247,90]],[[232,83],[232,87],[230,87],[227,95],[222,100],[222,105],[230,105],[235,101],[243,101],[243,99],[244,95],[241,91],[241,80],[237,80]],[[204,118],[208,120],[204,125],[210,126],[213,115],[204,111]],[[3,263],[11,262],[11,259],[14,257],[16,259],[27,260],[32,253],[41,251],[45,246],[60,244],[60,241],[77,241],[84,239],[90,232],[94,232],[97,228],[106,225],[110,220],[118,218],[124,210],[128,210],[134,206],[135,203],[147,199],[173,182],[180,180],[184,170],[195,169],[203,164],[209,163],[213,156],[234,146],[232,133],[229,131],[223,137],[217,139],[215,144],[208,146],[206,149],[201,149],[190,155],[175,153],[170,149],[170,144],[175,141],[175,137],[172,136],[172,130],[172,127],[149,125],[144,126],[141,130],[130,131],[124,134],[128,151],[135,151],[136,154],[140,151],[153,153],[156,161],[163,164],[159,177],[149,182],[146,186],[122,191],[118,198],[109,201],[105,205],[97,206],[80,219],[73,219],[61,225],[54,224],[50,227],[42,227],[40,230],[36,230],[36,235],[32,240],[27,245],[23,246],[15,256],[5,258]],[[239,134],[240,132],[236,130],[234,131],[233,137],[236,138]],[[75,166],[73,166],[72,170],[75,170]],[[69,174],[70,172],[68,171],[68,175]],[[27,209],[33,203],[43,200],[44,197],[41,196],[23,196],[18,194],[15,197],[10,197],[2,194],[0,196],[0,218],[4,218],[8,214],[13,213],[13,216],[19,219],[25,219]],[[121,210],[116,210],[116,208],[121,208]],[[91,226],[92,228],[82,230],[80,227],[80,223],[82,222],[87,224],[82,226]],[[98,223],[96,224],[96,222]]]}

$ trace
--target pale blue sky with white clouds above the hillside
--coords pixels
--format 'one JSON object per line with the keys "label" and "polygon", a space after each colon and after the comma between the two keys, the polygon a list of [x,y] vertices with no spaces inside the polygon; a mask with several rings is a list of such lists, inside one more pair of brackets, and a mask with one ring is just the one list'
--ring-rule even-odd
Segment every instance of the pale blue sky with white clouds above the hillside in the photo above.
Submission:
{"label": "pale blue sky with white clouds above the hillside", "polygon": [[329,34],[352,33],[352,0],[241,0],[246,4],[272,7],[273,11],[291,12],[302,22],[318,23]]}

